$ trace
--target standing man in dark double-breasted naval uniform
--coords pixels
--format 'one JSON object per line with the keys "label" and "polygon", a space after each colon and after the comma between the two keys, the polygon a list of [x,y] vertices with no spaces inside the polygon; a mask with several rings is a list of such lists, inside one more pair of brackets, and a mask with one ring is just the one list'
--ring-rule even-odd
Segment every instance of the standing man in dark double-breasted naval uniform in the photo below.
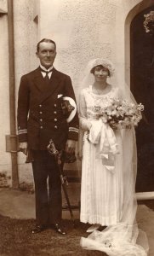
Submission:
{"label": "standing man in dark double-breasted naval uniform", "polygon": [[[22,152],[32,155],[36,195],[36,226],[33,234],[48,227],[61,235],[61,183],[54,156],[48,153],[49,140],[55,148],[74,154],[78,137],[77,105],[68,75],[53,67],[56,44],[44,38],[37,44],[40,66],[21,77],[18,98],[18,134]],[[64,114],[64,102],[73,106]],[[47,184],[48,181],[48,184]]]}

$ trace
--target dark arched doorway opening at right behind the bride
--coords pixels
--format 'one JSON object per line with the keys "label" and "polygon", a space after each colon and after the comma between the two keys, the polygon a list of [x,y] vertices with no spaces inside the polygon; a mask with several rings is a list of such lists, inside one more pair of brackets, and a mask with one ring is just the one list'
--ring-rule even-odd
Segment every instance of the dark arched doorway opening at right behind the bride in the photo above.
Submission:
{"label": "dark arched doorway opening at right behind the bride", "polygon": [[138,175],[136,191],[154,191],[154,37],[145,32],[144,15],[136,15],[130,26],[130,87],[137,102],[145,105],[144,118],[136,129]]}

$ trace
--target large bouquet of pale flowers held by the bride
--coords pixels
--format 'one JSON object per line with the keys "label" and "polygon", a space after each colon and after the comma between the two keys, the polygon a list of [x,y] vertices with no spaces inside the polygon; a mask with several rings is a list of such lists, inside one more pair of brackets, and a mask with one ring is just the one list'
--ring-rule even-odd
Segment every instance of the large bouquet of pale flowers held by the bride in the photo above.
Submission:
{"label": "large bouquet of pale flowers held by the bride", "polygon": [[94,107],[97,119],[102,119],[111,127],[126,128],[131,125],[137,126],[142,119],[141,111],[144,106],[134,104],[125,100],[111,99],[111,104],[106,108]]}

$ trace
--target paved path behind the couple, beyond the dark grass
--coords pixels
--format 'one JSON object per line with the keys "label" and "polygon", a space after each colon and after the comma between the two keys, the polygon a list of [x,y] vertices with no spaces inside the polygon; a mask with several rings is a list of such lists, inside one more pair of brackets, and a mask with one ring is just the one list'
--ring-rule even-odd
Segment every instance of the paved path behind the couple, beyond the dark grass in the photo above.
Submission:
{"label": "paved path behind the couple, beyond the dark grass", "polygon": [[[78,199],[76,198],[76,202]],[[154,201],[142,201],[138,207],[137,222],[145,231],[149,246],[149,256],[154,256]],[[74,217],[79,219],[79,211],[74,210]],[[17,189],[0,188],[0,214],[10,218],[31,219],[35,218],[34,194]],[[63,218],[70,218],[68,211],[63,211]]]}

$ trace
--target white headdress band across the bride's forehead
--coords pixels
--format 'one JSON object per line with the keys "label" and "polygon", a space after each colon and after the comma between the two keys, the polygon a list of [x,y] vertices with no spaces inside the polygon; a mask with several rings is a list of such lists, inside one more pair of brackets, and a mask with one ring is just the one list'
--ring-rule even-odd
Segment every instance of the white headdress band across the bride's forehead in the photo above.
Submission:
{"label": "white headdress band across the bride's forehead", "polygon": [[115,68],[111,63],[111,61],[107,59],[101,59],[101,58],[94,59],[88,62],[88,72],[90,73],[94,67],[97,67],[99,65],[106,67],[109,70],[110,75],[111,76],[113,75]]}

